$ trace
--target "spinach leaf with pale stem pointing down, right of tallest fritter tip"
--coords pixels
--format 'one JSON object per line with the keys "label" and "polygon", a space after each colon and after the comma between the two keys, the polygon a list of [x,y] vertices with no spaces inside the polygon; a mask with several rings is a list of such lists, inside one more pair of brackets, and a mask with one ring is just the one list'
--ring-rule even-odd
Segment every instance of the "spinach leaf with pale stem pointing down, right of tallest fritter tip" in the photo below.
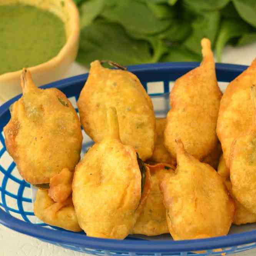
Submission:
{"label": "spinach leaf with pale stem pointing down, right of tallest fritter tip", "polygon": [[219,35],[216,40],[216,55],[218,62],[221,61],[221,52],[224,46],[234,37],[240,37],[249,31],[250,26],[242,20],[223,20]]}

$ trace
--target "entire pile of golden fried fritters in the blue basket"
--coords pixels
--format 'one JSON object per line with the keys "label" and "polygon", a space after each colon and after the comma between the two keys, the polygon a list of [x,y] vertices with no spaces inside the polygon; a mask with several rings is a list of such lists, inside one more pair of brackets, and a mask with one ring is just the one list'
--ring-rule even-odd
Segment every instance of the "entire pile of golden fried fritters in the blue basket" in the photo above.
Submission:
{"label": "entire pile of golden fried fritters in the blue basket", "polygon": [[[61,91],[37,88],[23,70],[5,143],[38,187],[39,219],[99,238],[170,232],[177,240],[256,222],[256,60],[222,96],[211,43],[201,45],[203,61],[176,80],[166,118],[114,62],[91,63],[80,120]],[[95,142],[81,161],[80,121]]]}

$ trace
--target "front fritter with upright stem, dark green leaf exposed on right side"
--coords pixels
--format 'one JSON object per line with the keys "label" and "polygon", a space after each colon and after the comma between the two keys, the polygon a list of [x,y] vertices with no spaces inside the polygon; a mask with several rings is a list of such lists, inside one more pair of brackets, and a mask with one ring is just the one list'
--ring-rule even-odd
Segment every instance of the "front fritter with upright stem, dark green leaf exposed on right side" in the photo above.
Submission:
{"label": "front fritter with upright stem, dark green leaf exposed on right side", "polygon": [[115,108],[106,112],[108,135],[76,166],[73,203],[88,236],[124,239],[146,203],[150,171],[132,146],[121,143]]}

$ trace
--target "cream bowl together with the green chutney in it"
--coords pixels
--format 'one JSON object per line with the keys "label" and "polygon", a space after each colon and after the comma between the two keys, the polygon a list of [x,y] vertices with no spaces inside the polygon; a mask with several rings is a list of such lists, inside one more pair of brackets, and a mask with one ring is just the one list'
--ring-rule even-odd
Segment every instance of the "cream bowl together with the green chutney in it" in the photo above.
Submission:
{"label": "cream bowl together with the green chutney in it", "polygon": [[0,0],[0,102],[21,93],[22,68],[37,86],[64,78],[79,32],[73,0]]}

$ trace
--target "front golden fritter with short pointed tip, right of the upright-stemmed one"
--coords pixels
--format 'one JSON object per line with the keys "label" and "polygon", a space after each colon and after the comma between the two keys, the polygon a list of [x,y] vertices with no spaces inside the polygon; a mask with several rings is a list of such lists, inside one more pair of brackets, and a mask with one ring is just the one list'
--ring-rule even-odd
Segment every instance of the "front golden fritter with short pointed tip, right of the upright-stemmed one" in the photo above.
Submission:
{"label": "front golden fritter with short pointed tip, right of the upright-stemmed one", "polygon": [[234,203],[218,173],[177,141],[175,175],[160,183],[170,234],[175,240],[228,234]]}

